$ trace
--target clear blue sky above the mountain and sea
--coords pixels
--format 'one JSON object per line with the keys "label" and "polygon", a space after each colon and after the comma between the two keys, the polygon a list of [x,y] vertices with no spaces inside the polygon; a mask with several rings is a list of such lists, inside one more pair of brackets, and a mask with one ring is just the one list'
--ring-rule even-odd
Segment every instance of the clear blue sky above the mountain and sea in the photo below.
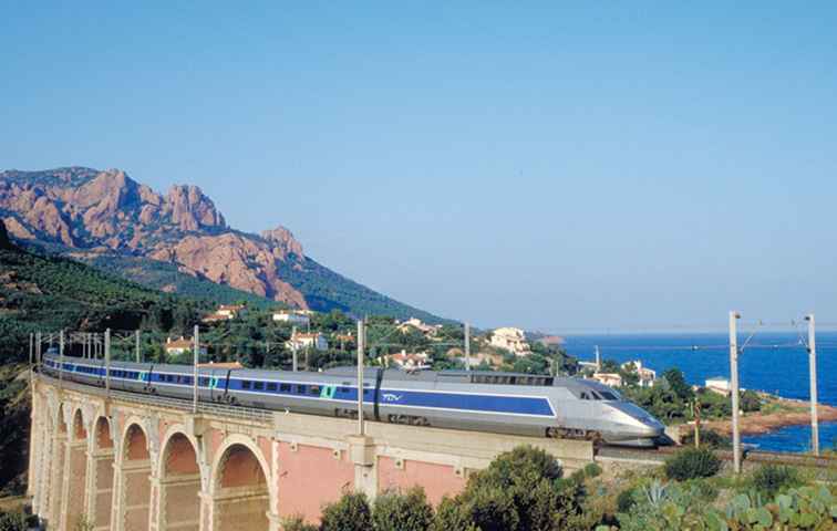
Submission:
{"label": "clear blue sky above the mountain and sea", "polygon": [[12,2],[0,167],[199,185],[477,325],[837,322],[833,2]]}

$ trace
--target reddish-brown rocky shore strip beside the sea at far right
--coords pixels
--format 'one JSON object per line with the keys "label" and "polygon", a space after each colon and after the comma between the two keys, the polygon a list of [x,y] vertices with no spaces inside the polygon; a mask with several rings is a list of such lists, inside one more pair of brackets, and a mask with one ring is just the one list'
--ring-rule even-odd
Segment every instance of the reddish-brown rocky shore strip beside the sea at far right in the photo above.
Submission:
{"label": "reddish-brown rocky shore strip beside the sea at far right", "polygon": [[[782,410],[772,413],[751,413],[742,415],[740,429],[742,435],[764,435],[787,426],[804,426],[810,424],[810,404],[804,400],[776,398],[775,403]],[[817,406],[820,423],[837,421],[837,407],[820,404]],[[694,429],[694,424],[680,426],[680,435]],[[732,435],[731,419],[709,420],[701,423],[701,429],[711,429],[724,436]]]}

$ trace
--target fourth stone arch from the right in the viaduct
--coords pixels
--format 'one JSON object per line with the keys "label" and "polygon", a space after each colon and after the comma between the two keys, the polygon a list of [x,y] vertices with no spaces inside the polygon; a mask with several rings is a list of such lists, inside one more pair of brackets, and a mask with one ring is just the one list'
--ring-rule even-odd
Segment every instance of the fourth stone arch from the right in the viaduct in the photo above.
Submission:
{"label": "fourth stone arch from the right in the viaduct", "polygon": [[111,421],[104,415],[92,424],[87,516],[96,529],[111,529],[114,489],[114,447]]}

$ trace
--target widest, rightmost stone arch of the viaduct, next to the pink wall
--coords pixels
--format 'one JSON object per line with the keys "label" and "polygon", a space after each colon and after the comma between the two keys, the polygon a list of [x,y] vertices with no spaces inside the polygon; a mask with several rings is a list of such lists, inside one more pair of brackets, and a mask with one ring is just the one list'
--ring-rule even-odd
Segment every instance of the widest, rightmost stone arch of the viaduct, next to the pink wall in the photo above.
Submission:
{"label": "widest, rightmost stone arch of the viaduct, next to the pink wall", "polygon": [[211,478],[214,529],[269,529],[270,467],[252,439],[229,436],[215,455]]}

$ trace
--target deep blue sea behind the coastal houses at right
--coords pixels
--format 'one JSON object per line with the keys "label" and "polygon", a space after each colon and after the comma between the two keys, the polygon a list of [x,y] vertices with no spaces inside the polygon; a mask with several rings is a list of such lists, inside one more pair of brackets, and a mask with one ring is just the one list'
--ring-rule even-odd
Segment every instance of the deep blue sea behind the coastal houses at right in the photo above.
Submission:
{"label": "deep blue sea behind the coastal houses at right", "polygon": [[[623,363],[633,360],[657,371],[680,368],[691,384],[730,376],[730,336],[723,333],[642,333],[565,335],[564,348],[581,361]],[[742,334],[738,379],[742,388],[764,391],[785,398],[810,398],[807,331]],[[837,406],[837,332],[818,332],[817,395],[819,403]],[[809,451],[810,426],[789,426],[776,431],[742,436],[751,448],[773,451]],[[837,423],[819,423],[819,447],[837,449]]]}

